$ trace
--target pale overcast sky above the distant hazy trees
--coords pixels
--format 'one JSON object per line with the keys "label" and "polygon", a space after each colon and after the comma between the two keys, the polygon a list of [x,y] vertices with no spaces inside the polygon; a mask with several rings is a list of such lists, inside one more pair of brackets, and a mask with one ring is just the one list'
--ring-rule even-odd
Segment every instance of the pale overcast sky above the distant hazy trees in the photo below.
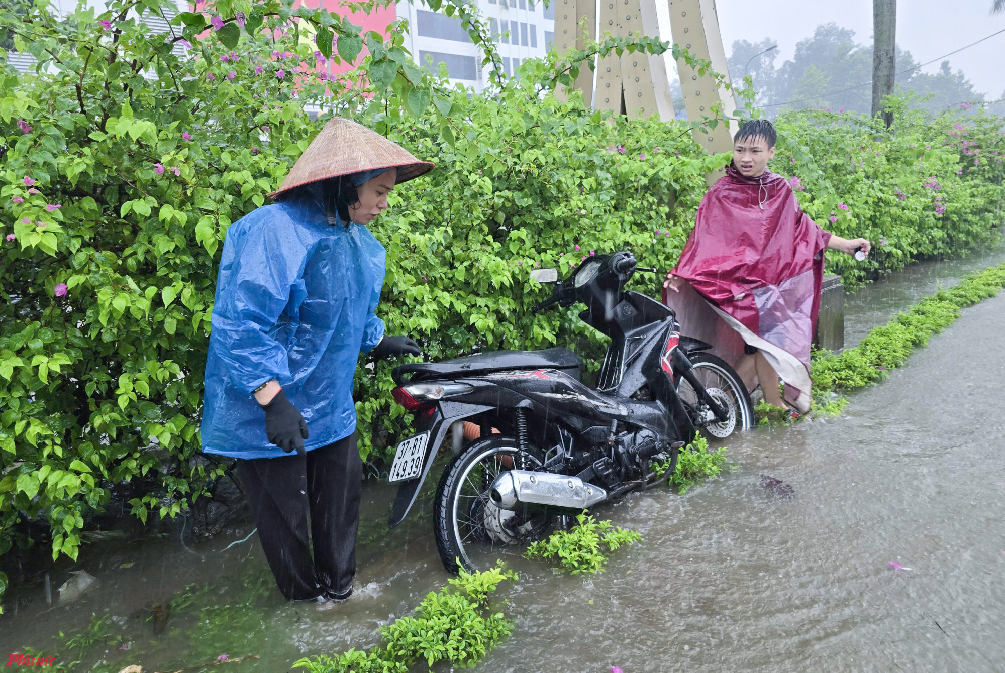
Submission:
{"label": "pale overcast sky above the distant hazy trees", "polygon": [[[1005,28],[1005,14],[991,16],[992,0],[899,0],[896,3],[896,43],[924,63]],[[776,67],[792,58],[796,42],[821,23],[834,21],[855,31],[855,40],[872,39],[871,0],[717,0],[726,54],[733,41],[778,42]],[[1005,91],[1005,33],[949,57],[953,70],[962,69],[974,88],[988,99]],[[935,72],[939,62],[922,68]]]}

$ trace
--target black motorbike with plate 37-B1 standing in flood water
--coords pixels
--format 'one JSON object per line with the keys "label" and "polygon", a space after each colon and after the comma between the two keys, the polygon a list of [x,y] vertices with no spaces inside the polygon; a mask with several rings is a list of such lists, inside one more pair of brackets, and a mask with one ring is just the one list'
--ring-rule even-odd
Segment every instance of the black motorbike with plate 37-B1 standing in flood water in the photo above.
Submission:
{"label": "black motorbike with plate 37-B1 standing in flood water", "polygon": [[[569,514],[657,483],[654,461],[672,470],[696,429],[727,437],[754,426],[746,386],[706,353],[712,347],[681,335],[669,307],[624,291],[635,271],[628,252],[591,256],[534,308],[586,304],[580,318],[610,338],[595,388],[562,348],[395,368],[394,398],[418,434],[398,445],[389,473],[401,483],[391,526],[408,513],[444,443],[454,455],[433,518],[443,565],[456,572],[458,563],[491,563],[496,545],[540,539]],[[534,277],[558,280],[555,269]],[[464,422],[477,426],[468,432],[476,439],[464,440]]]}

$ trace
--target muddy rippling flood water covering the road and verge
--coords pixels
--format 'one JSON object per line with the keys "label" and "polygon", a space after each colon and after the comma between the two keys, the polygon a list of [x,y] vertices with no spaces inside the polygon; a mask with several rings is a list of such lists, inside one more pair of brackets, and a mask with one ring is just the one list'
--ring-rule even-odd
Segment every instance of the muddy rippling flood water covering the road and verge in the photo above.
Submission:
{"label": "muddy rippling flood water covering the road and verge", "polygon": [[[848,300],[846,343],[938,282],[1002,259],[998,249],[916,264],[863,288]],[[568,576],[500,554],[520,580],[495,605],[516,628],[476,670],[1005,670],[1002,353],[1005,293],[851,395],[841,417],[746,433],[730,442],[721,477],[598,509],[642,534],[606,572]],[[779,497],[763,475],[794,494]],[[256,537],[240,541],[249,523],[184,545],[179,525],[85,546],[78,564],[53,571],[52,590],[72,570],[100,584],[68,605],[46,604],[41,586],[12,588],[0,652],[32,647],[69,663],[58,632],[90,625],[96,642],[75,670],[197,671],[222,654],[257,657],[206,669],[240,673],[375,645],[381,625],[447,578],[431,488],[418,516],[388,530],[393,495],[384,483],[364,487],[357,595],[346,604],[284,602]]]}

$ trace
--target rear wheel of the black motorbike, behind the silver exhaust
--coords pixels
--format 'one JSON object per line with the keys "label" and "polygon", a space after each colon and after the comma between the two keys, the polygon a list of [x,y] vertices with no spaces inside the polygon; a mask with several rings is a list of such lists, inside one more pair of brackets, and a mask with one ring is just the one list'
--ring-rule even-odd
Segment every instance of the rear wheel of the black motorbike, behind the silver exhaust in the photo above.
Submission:
{"label": "rear wheel of the black motorbike, behind the silver exhaust", "polygon": [[547,511],[495,506],[489,487],[500,472],[514,468],[517,442],[495,435],[468,444],[453,457],[440,477],[433,506],[436,549],[443,567],[456,573],[484,570],[498,549],[541,539],[555,516]]}

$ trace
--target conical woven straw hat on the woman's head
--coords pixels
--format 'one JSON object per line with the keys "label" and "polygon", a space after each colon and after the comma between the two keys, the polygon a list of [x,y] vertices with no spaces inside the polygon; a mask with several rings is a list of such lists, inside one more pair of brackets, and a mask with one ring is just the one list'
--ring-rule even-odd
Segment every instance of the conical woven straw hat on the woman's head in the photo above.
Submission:
{"label": "conical woven straw hat on the woman's head", "polygon": [[380,134],[337,117],[325,125],[293,164],[279,189],[269,196],[281,199],[285,192],[300,185],[381,168],[397,168],[397,183],[400,184],[428,173],[433,166],[430,162],[420,162]]}

